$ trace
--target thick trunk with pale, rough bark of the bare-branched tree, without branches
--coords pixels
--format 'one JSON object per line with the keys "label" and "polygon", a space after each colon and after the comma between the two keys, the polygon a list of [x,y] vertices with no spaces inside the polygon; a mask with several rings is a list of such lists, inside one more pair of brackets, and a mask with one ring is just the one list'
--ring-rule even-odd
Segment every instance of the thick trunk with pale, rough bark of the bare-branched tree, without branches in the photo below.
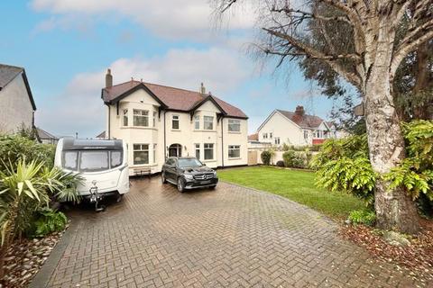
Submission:
{"label": "thick trunk with pale, rough bark of the bare-branched tree, without branches", "polygon": [[371,32],[374,39],[367,50],[373,51],[373,61],[364,78],[365,122],[370,162],[379,175],[374,191],[374,209],[377,226],[381,229],[398,229],[406,233],[419,230],[418,211],[403,187],[390,189],[381,175],[390,172],[405,157],[404,139],[400,118],[392,97],[390,73],[395,31],[392,21],[382,19]]}

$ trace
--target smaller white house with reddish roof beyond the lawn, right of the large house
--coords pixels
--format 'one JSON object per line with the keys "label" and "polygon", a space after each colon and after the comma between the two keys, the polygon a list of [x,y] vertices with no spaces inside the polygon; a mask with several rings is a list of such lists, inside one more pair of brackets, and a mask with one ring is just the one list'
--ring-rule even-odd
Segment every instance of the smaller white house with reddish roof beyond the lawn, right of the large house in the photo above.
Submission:
{"label": "smaller white house with reddish roof beyond the lawn, right of the large house", "polygon": [[332,122],[307,114],[303,106],[297,106],[295,112],[274,110],[260,125],[257,134],[258,141],[274,146],[283,143],[294,146],[316,145],[341,136]]}

